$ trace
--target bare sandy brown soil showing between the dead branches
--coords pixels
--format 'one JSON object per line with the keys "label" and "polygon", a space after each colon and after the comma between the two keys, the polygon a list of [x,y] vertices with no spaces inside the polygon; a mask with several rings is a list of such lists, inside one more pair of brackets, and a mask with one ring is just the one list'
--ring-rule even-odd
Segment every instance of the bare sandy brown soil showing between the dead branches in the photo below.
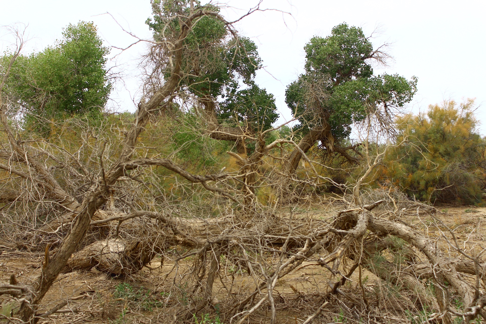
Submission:
{"label": "bare sandy brown soil showing between the dead branches", "polygon": [[[415,216],[407,215],[406,222],[432,239],[440,239],[441,235],[451,238],[447,230],[450,228],[458,245],[468,253],[478,253],[484,248],[486,207],[439,207],[438,210],[440,212],[434,214],[435,220],[430,215],[417,213]],[[311,208],[302,214],[327,218],[332,212],[329,208]],[[43,254],[12,250],[5,246],[0,246],[0,251],[2,282],[8,282],[10,275],[15,273],[19,282],[29,283],[40,273]],[[57,314],[40,323],[177,323],[173,315],[167,315],[175,313],[172,307],[181,305],[180,297],[174,300],[176,297],[167,292],[167,287],[174,282],[174,275],[177,275],[174,271],[170,272],[174,269],[174,262],[167,257],[162,265],[160,261],[160,258],[156,258],[149,265],[150,269],[144,268],[136,275],[123,279],[112,278],[94,269],[61,274],[46,295],[44,305],[53,307],[59,300],[70,298],[69,306],[73,312]],[[190,261],[185,260],[179,267],[189,266]],[[215,282],[213,305],[225,308],[241,298],[243,292],[252,291],[255,285],[251,276],[231,273],[224,263],[222,268],[220,280]],[[372,273],[363,270],[362,277],[365,290],[371,292],[378,285]],[[351,279],[353,281],[347,283],[346,289],[361,289],[357,284],[357,271]],[[330,290],[329,280],[329,271],[318,266],[304,268],[279,279],[275,290],[276,302],[280,305],[279,323],[302,323],[319,307],[317,304],[322,302],[319,296]],[[2,314],[10,315],[13,305],[10,297],[0,296]],[[261,319],[255,323],[265,323],[266,320],[262,313]],[[321,318],[313,323],[328,321]]]}

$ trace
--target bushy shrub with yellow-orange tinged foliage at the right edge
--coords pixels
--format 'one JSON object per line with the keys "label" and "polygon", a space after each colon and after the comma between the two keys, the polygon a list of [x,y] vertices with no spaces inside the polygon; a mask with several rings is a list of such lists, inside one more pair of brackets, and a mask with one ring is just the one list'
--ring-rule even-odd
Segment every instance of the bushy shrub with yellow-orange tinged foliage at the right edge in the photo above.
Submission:
{"label": "bushy shrub with yellow-orange tinged foliage at the right edge", "polygon": [[391,180],[421,201],[481,203],[486,141],[476,129],[472,100],[431,105],[427,114],[398,119],[397,143],[378,180]]}

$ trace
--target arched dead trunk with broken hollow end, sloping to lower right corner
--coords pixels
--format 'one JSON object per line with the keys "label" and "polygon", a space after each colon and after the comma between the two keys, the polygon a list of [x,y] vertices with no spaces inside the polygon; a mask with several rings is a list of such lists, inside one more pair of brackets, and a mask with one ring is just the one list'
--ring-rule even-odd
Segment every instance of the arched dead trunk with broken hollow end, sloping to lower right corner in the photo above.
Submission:
{"label": "arched dead trunk with broken hollow end, sloping to lower right corner", "polygon": [[[334,261],[334,267],[330,269],[333,273],[336,272],[336,264],[339,262],[344,250],[348,250],[348,253],[357,262],[361,260],[363,264],[378,277],[384,280],[390,280],[395,284],[403,284],[407,289],[414,291],[419,301],[424,305],[432,305],[433,307],[439,307],[440,311],[444,314],[442,317],[444,323],[451,323],[451,314],[461,316],[466,322],[476,318],[478,314],[484,314],[484,307],[486,306],[486,296],[482,296],[473,284],[471,284],[461,273],[470,273],[476,275],[476,278],[484,277],[485,267],[483,264],[479,264],[472,260],[459,260],[447,257],[441,251],[440,247],[437,247],[435,242],[424,235],[413,230],[409,226],[393,222],[386,219],[378,218],[366,209],[368,206],[356,207],[340,212],[338,214],[337,221],[337,233],[339,243],[333,243],[328,245],[328,251],[330,254],[325,257],[321,257],[318,260],[304,262],[297,268],[303,268],[310,265],[326,266],[329,262]],[[365,247],[359,242],[359,238],[363,237],[363,226],[366,225],[367,230],[373,232],[378,241],[372,242],[373,244]],[[376,251],[384,250],[387,248],[387,244],[380,238],[384,238],[388,235],[398,237],[405,240],[409,244],[419,249],[429,259],[428,264],[414,264],[410,267],[405,267],[402,271],[394,270],[377,271],[373,266],[373,262],[369,260],[369,257]],[[382,245],[382,246],[377,246]],[[368,253],[363,253],[366,249]],[[387,262],[387,261],[385,261]],[[393,269],[393,265],[390,264],[390,268]],[[436,302],[432,301],[429,294],[423,287],[421,281],[423,278],[433,278],[436,294]],[[445,282],[447,281],[448,284]],[[463,300],[462,313],[451,309],[449,306],[449,297],[447,292],[447,286],[451,286],[461,296]]]}

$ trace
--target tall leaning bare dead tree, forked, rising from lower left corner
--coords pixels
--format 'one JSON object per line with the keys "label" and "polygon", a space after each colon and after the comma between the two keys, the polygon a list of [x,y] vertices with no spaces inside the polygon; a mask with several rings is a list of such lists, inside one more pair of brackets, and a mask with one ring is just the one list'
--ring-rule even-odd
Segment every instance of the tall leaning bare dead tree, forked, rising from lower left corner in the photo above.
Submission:
{"label": "tall leaning bare dead tree, forked, rising from lower left corner", "polygon": [[[81,203],[78,203],[69,194],[62,189],[62,187],[53,178],[52,174],[47,170],[47,168],[36,158],[30,156],[23,148],[21,142],[17,140],[14,133],[11,131],[8,124],[8,119],[6,116],[6,110],[8,109],[3,98],[1,99],[1,111],[0,119],[3,124],[3,131],[6,133],[9,139],[9,143],[12,147],[12,151],[15,153],[15,158],[18,158],[23,163],[27,164],[36,173],[37,177],[35,181],[37,184],[42,185],[49,197],[57,201],[57,204],[61,205],[72,214],[72,223],[69,230],[69,234],[63,239],[61,245],[57,249],[56,253],[44,263],[44,268],[42,269],[42,274],[35,280],[32,288],[27,288],[27,286],[22,286],[22,294],[24,296],[25,302],[19,310],[19,316],[25,322],[37,322],[38,317],[36,314],[36,307],[42,301],[42,298],[46,292],[51,287],[54,280],[57,278],[58,274],[65,267],[69,257],[79,246],[81,241],[86,236],[87,230],[89,228],[91,218],[95,212],[103,205],[110,196],[112,196],[112,186],[118,181],[118,179],[125,175],[127,170],[138,168],[149,161],[135,162],[132,161],[132,155],[134,153],[134,148],[137,143],[138,136],[144,130],[147,123],[149,122],[150,115],[164,107],[164,100],[171,98],[174,95],[174,91],[177,89],[178,82],[181,78],[181,61],[182,61],[182,49],[183,42],[187,34],[191,30],[191,25],[193,21],[197,18],[213,15],[218,16],[218,14],[203,10],[198,10],[191,15],[186,17],[177,17],[179,20],[180,31],[174,39],[174,42],[167,44],[172,57],[172,67],[170,77],[167,78],[166,82],[162,87],[160,87],[153,96],[148,100],[142,100],[139,103],[139,109],[136,114],[136,120],[130,130],[127,131],[125,139],[123,141],[122,148],[119,152],[119,157],[115,163],[113,163],[108,170],[104,170],[102,166],[102,174],[93,179],[90,188],[87,190],[85,197]],[[20,51],[22,50],[22,41],[20,40],[17,51],[15,51],[12,56],[10,63],[2,77],[0,84],[0,89],[3,88],[7,78],[9,77],[10,69],[12,68],[15,60],[17,59]],[[161,105],[162,103],[162,105]],[[17,157],[18,156],[18,157]],[[150,163],[157,164],[162,162],[151,161]],[[162,163],[166,163],[164,161]],[[101,161],[100,161],[101,163]],[[16,172],[6,167],[6,170],[12,174],[18,174],[21,176],[27,176],[27,174]],[[175,170],[175,169],[174,169]],[[205,183],[205,179],[200,179],[201,183]],[[47,256],[48,257],[48,256]],[[6,290],[2,290],[2,293],[11,292],[10,286],[5,287]],[[17,290],[14,295],[17,294]]]}

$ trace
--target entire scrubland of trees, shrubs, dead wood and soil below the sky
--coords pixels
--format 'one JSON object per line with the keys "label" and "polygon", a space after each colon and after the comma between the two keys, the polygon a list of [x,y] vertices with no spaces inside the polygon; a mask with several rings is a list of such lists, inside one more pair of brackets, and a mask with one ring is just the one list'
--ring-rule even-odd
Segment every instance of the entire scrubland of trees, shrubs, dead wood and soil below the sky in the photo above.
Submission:
{"label": "entire scrubland of trees, shrubs, dead wood and soil below the sky", "polygon": [[343,23],[305,46],[278,125],[234,22],[152,6],[135,113],[106,109],[92,23],[1,56],[0,321],[482,323],[473,100],[409,113],[417,78],[374,74],[386,45]]}

